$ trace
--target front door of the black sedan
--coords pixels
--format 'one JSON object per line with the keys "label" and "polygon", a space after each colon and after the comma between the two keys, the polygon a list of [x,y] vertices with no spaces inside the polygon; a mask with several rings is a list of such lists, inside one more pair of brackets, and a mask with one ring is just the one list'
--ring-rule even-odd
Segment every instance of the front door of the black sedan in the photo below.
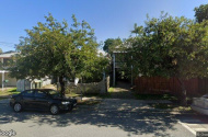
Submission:
{"label": "front door of the black sedan", "polygon": [[49,98],[46,92],[36,90],[35,91],[35,105],[39,110],[48,109]]}

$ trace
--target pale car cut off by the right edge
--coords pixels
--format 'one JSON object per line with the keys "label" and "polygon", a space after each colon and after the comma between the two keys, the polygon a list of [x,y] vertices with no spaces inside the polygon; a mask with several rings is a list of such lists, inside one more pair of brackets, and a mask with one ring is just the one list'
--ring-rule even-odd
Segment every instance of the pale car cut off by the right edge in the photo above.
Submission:
{"label": "pale car cut off by the right edge", "polygon": [[190,107],[198,113],[208,115],[208,94],[201,98],[194,98]]}

